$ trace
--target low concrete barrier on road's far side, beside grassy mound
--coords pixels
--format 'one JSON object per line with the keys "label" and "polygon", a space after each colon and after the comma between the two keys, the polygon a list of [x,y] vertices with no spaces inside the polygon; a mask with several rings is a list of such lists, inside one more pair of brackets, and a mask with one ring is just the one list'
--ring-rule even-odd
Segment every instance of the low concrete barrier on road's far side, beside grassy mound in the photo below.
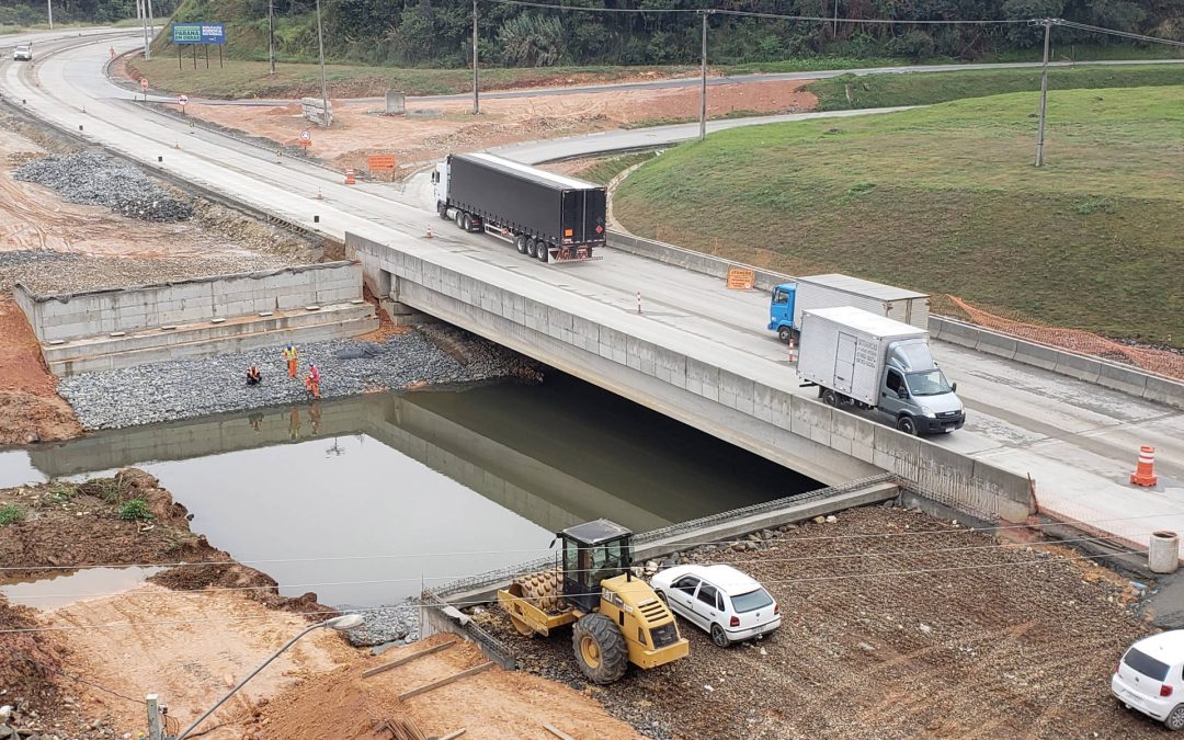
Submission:
{"label": "low concrete barrier on road's far side, beside grassy mound", "polygon": [[[728,262],[721,257],[618,231],[609,232],[607,243],[612,249],[623,252],[719,278],[727,277],[731,268],[753,270],[757,275],[755,287],[762,290],[771,290],[774,285],[794,279],[790,275],[762,270],[739,262]],[[1150,401],[1184,408],[1184,382],[1146,373],[1137,367],[1107,362],[1099,358],[1076,354],[933,314],[929,314],[929,334],[934,339],[996,354],[1015,362],[1042,367],[1054,373],[1122,391]]]}

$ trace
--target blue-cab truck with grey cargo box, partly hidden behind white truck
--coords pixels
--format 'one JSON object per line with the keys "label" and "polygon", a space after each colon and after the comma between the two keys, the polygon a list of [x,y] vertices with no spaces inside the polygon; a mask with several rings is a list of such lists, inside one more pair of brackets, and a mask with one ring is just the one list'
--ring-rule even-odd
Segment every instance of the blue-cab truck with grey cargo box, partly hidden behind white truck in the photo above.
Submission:
{"label": "blue-cab truck with grey cargo box, partly hidden behind white truck", "polygon": [[928,295],[831,272],[799,277],[773,288],[768,329],[787,342],[800,332],[803,311],[836,305],[854,305],[919,329],[929,328]]}

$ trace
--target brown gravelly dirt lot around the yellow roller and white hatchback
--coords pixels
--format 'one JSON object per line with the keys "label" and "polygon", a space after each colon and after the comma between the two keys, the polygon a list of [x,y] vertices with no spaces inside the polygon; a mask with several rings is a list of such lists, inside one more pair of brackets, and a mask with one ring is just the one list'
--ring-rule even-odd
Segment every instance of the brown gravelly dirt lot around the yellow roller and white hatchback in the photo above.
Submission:
{"label": "brown gravelly dirt lot around the yellow roller and white hatchback", "polygon": [[[1154,630],[1115,572],[1063,546],[1011,545],[919,511],[868,508],[684,562],[728,562],[783,625],[728,649],[680,620],[686,659],[590,687],[568,633],[520,637],[477,614],[527,670],[661,738],[1139,738],[1109,675]],[[727,718],[726,720],[723,718]]]}

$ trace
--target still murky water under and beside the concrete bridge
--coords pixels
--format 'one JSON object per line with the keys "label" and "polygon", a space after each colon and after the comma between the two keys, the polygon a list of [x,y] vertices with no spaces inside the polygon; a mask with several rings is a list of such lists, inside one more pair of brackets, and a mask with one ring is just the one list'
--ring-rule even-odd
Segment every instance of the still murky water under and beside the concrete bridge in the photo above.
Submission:
{"label": "still murky water under and beside the concrete bridge", "polygon": [[0,481],[137,465],[287,596],[388,604],[547,552],[818,488],[579,380],[375,394],[0,453]]}

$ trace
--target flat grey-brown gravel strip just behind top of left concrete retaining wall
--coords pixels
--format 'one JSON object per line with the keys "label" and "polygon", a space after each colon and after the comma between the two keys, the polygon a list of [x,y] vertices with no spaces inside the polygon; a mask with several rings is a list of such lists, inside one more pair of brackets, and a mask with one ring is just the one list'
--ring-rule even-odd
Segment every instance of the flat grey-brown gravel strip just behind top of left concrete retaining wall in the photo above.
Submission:
{"label": "flat grey-brown gravel strip just behind top of left concrete retaining wall", "polygon": [[79,292],[124,285],[153,285],[208,275],[274,270],[291,263],[278,255],[240,253],[220,257],[134,259],[92,257],[41,250],[0,251],[0,292],[17,282],[33,292]]}

